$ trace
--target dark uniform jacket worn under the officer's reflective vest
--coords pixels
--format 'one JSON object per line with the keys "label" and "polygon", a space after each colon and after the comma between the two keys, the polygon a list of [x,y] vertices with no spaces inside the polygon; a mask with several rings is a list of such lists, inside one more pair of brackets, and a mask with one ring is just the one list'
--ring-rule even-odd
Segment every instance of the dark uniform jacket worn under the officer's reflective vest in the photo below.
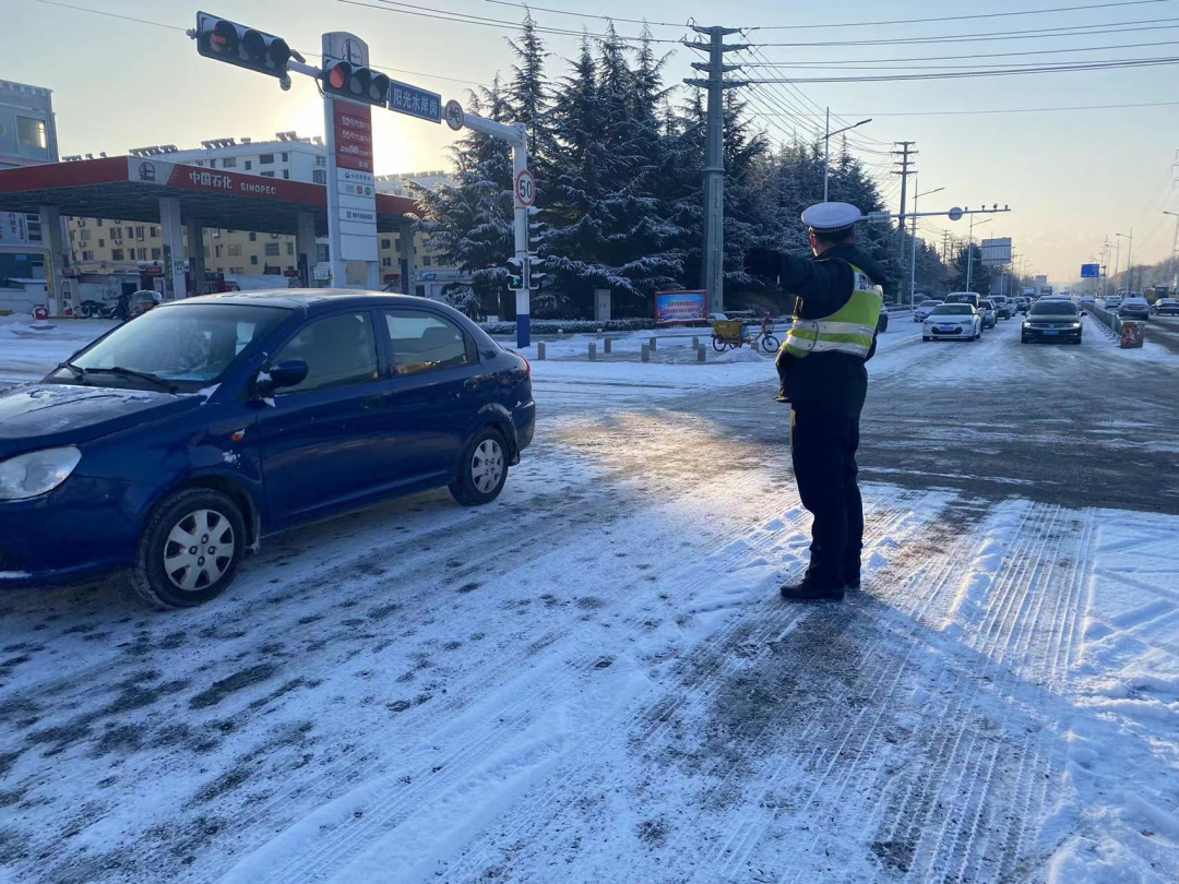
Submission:
{"label": "dark uniform jacket worn under the officer's reflective vest", "polygon": [[[855,275],[851,265],[863,270],[877,285],[884,285],[884,271],[855,245],[832,246],[816,258],[780,255],[779,279],[784,291],[798,296],[795,315],[803,319],[822,319],[851,298]],[[864,362],[876,354],[876,338],[867,358],[844,352],[812,352],[805,357],[778,355],[780,395],[796,408],[822,408],[845,415],[858,415],[868,395],[868,371]]]}

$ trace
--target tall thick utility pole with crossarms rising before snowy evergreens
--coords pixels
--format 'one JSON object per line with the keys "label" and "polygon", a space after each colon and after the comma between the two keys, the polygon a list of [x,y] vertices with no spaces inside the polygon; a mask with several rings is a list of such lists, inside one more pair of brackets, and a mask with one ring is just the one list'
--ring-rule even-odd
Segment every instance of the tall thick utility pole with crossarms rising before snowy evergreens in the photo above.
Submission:
{"label": "tall thick utility pole with crossarms rising before snowy evergreens", "polygon": [[689,48],[709,53],[707,62],[692,62],[697,71],[709,74],[707,79],[689,78],[684,83],[709,90],[707,150],[704,158],[704,288],[709,291],[709,312],[719,314],[725,309],[725,90],[743,85],[725,81],[726,73],[740,70],[740,65],[725,64],[725,53],[749,47],[725,42],[725,37],[740,33],[739,28],[693,25],[692,29],[709,38],[707,42],[684,41]]}

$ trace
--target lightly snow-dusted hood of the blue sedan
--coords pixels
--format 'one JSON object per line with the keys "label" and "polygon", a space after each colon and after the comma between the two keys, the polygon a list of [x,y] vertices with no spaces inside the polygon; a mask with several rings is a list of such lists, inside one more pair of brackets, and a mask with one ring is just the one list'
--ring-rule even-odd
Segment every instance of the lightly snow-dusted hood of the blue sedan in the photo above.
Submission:
{"label": "lightly snow-dusted hood of the blue sedan", "polygon": [[202,396],[73,384],[34,384],[0,395],[0,457],[84,442],[145,420],[197,408]]}

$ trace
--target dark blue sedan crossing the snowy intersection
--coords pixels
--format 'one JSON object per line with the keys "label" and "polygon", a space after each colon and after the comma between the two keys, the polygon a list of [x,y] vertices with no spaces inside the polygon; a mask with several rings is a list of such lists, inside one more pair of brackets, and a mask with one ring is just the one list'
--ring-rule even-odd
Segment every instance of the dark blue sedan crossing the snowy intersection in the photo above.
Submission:
{"label": "dark blue sedan crossing the snowy intersection", "polygon": [[441,486],[495,500],[534,425],[528,363],[444,304],[170,303],[0,396],[0,586],[121,572],[199,605],[266,534]]}

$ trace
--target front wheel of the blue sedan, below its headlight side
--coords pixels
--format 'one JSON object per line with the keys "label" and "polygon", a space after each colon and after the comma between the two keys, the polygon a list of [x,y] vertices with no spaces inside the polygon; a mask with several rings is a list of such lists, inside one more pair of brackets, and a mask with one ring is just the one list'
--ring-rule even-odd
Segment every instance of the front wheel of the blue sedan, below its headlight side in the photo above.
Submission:
{"label": "front wheel of the blue sedan, below its headlight side", "polygon": [[158,608],[191,608],[220,595],[245,554],[245,519],[220,492],[187,488],[147,519],[131,586]]}

